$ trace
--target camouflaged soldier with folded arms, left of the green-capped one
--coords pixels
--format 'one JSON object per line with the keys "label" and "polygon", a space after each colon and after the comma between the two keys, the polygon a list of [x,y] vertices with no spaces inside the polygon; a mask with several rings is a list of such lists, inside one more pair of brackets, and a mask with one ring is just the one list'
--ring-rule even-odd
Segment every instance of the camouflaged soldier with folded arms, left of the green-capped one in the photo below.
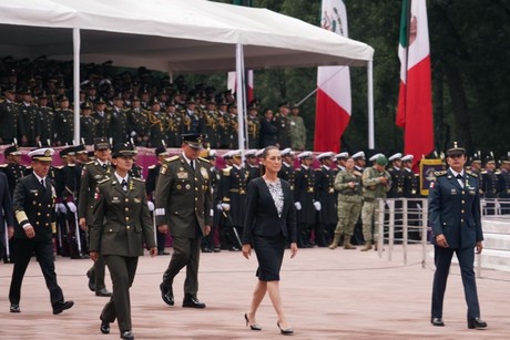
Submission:
{"label": "camouflaged soldier with folded arms, left of the green-capped one", "polygon": [[361,213],[361,177],[363,174],[354,168],[353,157],[345,162],[345,169],[335,177],[335,190],[338,192],[338,224],[335,228],[335,237],[329,249],[338,246],[340,237],[344,236],[344,249],[356,249],[350,244],[354,226]]}

